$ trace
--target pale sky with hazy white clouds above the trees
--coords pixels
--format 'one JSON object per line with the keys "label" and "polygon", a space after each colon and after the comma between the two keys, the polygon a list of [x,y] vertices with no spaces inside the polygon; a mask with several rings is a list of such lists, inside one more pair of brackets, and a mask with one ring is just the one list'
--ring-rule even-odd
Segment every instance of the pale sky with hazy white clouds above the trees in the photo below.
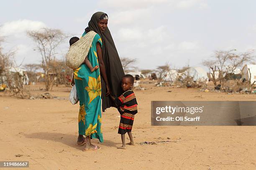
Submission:
{"label": "pale sky with hazy white clouds above the trees", "polygon": [[[200,66],[214,50],[256,48],[255,7],[255,0],[8,0],[1,2],[0,36],[5,50],[17,50],[18,62],[39,63],[27,30],[49,27],[80,37],[102,11],[119,56],[137,58],[139,68]],[[68,47],[67,40],[59,57]]]}

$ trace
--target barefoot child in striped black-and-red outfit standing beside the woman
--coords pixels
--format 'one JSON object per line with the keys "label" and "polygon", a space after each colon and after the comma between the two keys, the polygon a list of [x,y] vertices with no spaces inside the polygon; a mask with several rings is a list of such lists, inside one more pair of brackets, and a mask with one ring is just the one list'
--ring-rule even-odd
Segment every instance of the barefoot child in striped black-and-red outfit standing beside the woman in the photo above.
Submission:
{"label": "barefoot child in striped black-and-red outfit standing beside the woman", "polygon": [[137,100],[134,95],[134,92],[132,89],[134,83],[134,77],[132,75],[125,75],[122,79],[122,85],[121,88],[124,91],[122,95],[115,98],[112,95],[110,97],[112,100],[115,101],[115,104],[118,107],[118,111],[120,112],[120,124],[118,128],[118,133],[121,134],[121,139],[123,145],[118,147],[118,149],[126,149],[125,147],[125,133],[128,133],[128,136],[130,138],[130,143],[127,143],[127,145],[135,145],[133,142],[133,135],[131,133],[131,130],[133,128],[133,120],[134,115],[137,113]]}

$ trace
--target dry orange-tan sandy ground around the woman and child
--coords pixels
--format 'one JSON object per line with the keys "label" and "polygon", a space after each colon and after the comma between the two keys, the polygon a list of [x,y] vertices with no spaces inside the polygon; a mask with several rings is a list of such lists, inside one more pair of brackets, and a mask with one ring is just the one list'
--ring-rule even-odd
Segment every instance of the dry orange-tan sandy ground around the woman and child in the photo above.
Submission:
{"label": "dry orange-tan sandy ground around the woman and child", "polygon": [[[120,118],[110,108],[102,115],[104,143],[92,140],[102,149],[87,152],[75,145],[79,105],[67,100],[70,87],[54,87],[51,94],[59,100],[24,100],[0,93],[0,161],[29,161],[30,167],[22,169],[32,170],[256,169],[254,126],[157,127],[150,123],[151,100],[256,100],[256,95],[143,86],[147,89],[135,90],[139,105],[133,125],[136,146],[117,149],[121,145]],[[44,93],[39,87],[30,87],[31,92]],[[139,144],[165,140],[173,142]],[[15,157],[17,154],[22,156]]]}

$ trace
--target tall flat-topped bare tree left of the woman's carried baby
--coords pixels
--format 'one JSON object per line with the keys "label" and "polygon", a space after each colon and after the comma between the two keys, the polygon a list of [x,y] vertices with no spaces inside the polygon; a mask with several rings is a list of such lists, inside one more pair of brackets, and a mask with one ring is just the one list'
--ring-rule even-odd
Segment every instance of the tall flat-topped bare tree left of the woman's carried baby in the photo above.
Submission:
{"label": "tall flat-topped bare tree left of the woman's carried baby", "polygon": [[61,42],[67,38],[61,30],[43,28],[39,31],[28,31],[28,36],[31,37],[37,45],[37,50],[41,54],[41,65],[45,74],[46,91],[52,89],[54,85],[53,62],[55,61],[56,49]]}

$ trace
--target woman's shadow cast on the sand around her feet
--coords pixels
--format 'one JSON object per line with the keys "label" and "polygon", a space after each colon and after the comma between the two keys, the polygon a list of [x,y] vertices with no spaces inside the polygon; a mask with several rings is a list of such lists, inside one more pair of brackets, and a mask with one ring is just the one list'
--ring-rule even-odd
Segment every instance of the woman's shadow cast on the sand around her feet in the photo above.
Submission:
{"label": "woman's shadow cast on the sand around her feet", "polygon": [[[30,133],[24,135],[26,138],[35,138],[35,139],[41,139],[41,140],[51,140],[63,143],[65,145],[68,145],[72,148],[76,148],[78,150],[82,150],[84,146],[77,146],[77,135],[71,135],[71,134],[63,134],[63,133],[49,133],[49,132],[43,132],[43,133]],[[99,143],[99,140],[92,139],[92,144]],[[106,147],[117,147],[116,144],[111,140],[104,140],[103,143],[99,143],[100,145],[104,145]]]}

